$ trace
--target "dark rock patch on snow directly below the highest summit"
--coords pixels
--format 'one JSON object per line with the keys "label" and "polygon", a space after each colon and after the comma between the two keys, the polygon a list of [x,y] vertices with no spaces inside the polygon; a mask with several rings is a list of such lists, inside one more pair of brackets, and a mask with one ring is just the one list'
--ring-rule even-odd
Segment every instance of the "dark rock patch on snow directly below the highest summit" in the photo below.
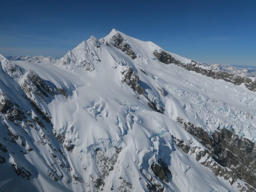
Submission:
{"label": "dark rock patch on snow directly below the highest summit", "polygon": [[125,54],[129,55],[132,59],[137,58],[130,45],[124,41],[124,38],[119,34],[115,34],[109,40],[110,45],[122,50]]}

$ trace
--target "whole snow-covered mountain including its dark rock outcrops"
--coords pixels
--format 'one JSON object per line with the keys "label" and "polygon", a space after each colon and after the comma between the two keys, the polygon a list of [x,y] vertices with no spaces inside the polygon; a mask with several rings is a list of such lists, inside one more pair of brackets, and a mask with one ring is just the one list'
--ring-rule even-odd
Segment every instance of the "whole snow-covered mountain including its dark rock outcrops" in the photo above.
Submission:
{"label": "whole snow-covered mountain including its dark rock outcrops", "polygon": [[116,30],[54,64],[12,62],[1,56],[0,191],[255,191],[246,82]]}

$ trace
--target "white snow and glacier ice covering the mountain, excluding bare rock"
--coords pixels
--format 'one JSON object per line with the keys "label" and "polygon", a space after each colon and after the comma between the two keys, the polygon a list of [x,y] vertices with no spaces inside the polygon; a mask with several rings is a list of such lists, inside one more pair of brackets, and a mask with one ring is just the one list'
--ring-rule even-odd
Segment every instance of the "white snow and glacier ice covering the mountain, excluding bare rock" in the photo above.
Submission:
{"label": "white snow and glacier ice covering the mountain, excluding bare rock", "polygon": [[[112,30],[104,40],[108,42],[116,33],[116,30]],[[192,141],[195,146],[204,148],[176,123],[176,117],[180,117],[186,122],[204,127],[209,133],[218,127],[234,129],[239,136],[255,142],[255,92],[249,91],[244,85],[235,86],[174,64],[158,62],[152,52],[161,50],[159,46],[118,33],[130,45],[136,59],[132,60],[122,50],[103,42],[98,42],[100,46],[97,47],[94,38],[90,38],[67,53],[72,58],[72,62],[67,65],[63,65],[65,56],[55,64],[12,61],[24,70],[34,70],[40,78],[52,82],[56,87],[66,88],[68,98],[58,95],[48,104],[40,102],[40,107],[52,117],[53,129],[65,134],[66,140],[71,141],[75,147],[72,152],[64,149],[66,159],[58,155],[61,161],[69,162],[71,170],[58,167],[56,159],[49,155],[47,145],[36,144],[38,150],[25,155],[26,160],[15,160],[10,156],[9,162],[15,160],[31,164],[32,178],[21,179],[14,171],[10,171],[11,166],[8,168],[0,164],[0,170],[8,172],[0,176],[0,191],[1,188],[19,191],[19,187],[28,184],[38,191],[93,191],[95,188],[90,175],[95,178],[99,174],[95,151],[100,149],[111,156],[113,147],[122,148],[122,151],[118,154],[114,169],[104,179],[105,184],[101,187],[103,191],[111,191],[112,186],[114,191],[118,191],[122,182],[120,177],[132,184],[130,191],[146,190],[147,183],[142,172],[153,175],[148,172],[148,168],[159,158],[168,162],[172,172],[172,182],[164,184],[166,191],[238,191],[235,184],[231,186],[224,178],[216,177],[210,169],[197,162],[193,155],[180,150],[172,136],[185,142]],[[191,62],[170,54],[183,63]],[[88,71],[79,67],[84,60],[90,62],[95,69]],[[140,85],[148,98],[164,106],[164,114],[152,111],[144,96],[121,82],[120,71],[127,66],[138,73]],[[17,96],[21,91],[14,93],[12,90],[18,87],[23,76],[8,79],[6,74],[2,74],[3,71],[0,88],[5,94]],[[165,90],[166,96],[158,88]],[[26,108],[25,104],[23,107]],[[36,130],[31,130],[30,135],[18,131],[26,138],[28,145],[32,145],[38,138]],[[29,137],[34,139],[29,140]],[[64,175],[62,180],[56,182],[46,175],[49,166]],[[83,178],[84,183],[74,180],[73,174]],[[66,183],[67,179],[70,179],[69,184]],[[240,183],[243,185],[242,181]]]}

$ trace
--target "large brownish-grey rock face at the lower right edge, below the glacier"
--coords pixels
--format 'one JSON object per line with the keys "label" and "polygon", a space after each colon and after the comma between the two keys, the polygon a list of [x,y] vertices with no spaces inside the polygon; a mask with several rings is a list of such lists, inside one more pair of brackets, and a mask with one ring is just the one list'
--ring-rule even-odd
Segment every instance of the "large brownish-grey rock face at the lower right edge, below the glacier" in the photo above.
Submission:
{"label": "large brownish-grey rock face at the lower right edge, below the glacier", "polygon": [[[205,129],[196,127],[191,122],[186,123],[181,118],[177,118],[177,122],[208,149],[202,149],[196,154],[196,160],[200,161],[207,156],[207,160],[200,163],[212,169],[216,176],[223,176],[226,180],[231,178],[230,184],[240,179],[246,183],[247,191],[256,191],[255,143],[240,138],[233,130],[218,129],[208,134]],[[186,144],[177,146],[186,153],[188,148],[192,151]]]}

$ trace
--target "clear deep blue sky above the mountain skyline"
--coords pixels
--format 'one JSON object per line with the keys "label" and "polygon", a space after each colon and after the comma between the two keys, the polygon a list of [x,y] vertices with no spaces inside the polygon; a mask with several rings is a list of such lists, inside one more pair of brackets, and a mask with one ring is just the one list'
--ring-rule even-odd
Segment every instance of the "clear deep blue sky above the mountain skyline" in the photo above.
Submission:
{"label": "clear deep blue sky above the mountain skyline", "polygon": [[255,0],[0,0],[0,54],[62,57],[112,28],[198,62],[256,66]]}

